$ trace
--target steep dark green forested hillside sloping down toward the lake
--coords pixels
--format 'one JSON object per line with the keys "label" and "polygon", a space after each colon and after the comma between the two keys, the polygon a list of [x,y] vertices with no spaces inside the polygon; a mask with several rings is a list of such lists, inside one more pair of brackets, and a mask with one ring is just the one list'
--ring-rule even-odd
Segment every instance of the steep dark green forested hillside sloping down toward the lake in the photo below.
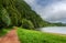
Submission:
{"label": "steep dark green forested hillside sloping down toward the lake", "polygon": [[35,29],[56,25],[42,18],[24,0],[0,0],[0,28],[22,26]]}

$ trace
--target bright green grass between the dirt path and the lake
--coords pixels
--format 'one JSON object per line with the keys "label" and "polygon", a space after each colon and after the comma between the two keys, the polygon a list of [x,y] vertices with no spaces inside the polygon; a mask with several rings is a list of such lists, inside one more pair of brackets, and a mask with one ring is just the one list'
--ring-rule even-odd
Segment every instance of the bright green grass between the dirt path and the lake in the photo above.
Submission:
{"label": "bright green grass between the dirt path and the lake", "polygon": [[66,36],[20,28],[18,29],[18,35],[21,43],[66,43]]}

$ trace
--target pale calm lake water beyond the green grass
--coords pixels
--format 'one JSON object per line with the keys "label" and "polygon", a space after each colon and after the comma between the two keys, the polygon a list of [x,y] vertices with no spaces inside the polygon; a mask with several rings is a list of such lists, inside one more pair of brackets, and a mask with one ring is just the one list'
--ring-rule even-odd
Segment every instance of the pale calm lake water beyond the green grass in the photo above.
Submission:
{"label": "pale calm lake water beyond the green grass", "polygon": [[66,34],[66,26],[48,26],[40,29],[42,32]]}

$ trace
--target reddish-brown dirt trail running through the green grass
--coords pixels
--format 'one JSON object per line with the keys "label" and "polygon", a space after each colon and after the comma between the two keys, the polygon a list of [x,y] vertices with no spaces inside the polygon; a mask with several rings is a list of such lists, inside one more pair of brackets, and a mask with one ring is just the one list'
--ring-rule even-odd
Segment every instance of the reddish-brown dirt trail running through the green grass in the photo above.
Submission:
{"label": "reddish-brown dirt trail running through the green grass", "polygon": [[11,30],[7,35],[0,39],[0,43],[20,43],[16,30]]}

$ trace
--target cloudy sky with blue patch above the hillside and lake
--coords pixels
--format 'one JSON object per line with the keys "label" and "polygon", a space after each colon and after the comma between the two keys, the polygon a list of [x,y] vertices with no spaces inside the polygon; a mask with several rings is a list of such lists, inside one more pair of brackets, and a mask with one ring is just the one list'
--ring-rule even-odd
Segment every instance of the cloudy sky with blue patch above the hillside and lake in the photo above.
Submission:
{"label": "cloudy sky with blue patch above the hillside and lake", "polygon": [[66,0],[24,0],[43,20],[66,23]]}

